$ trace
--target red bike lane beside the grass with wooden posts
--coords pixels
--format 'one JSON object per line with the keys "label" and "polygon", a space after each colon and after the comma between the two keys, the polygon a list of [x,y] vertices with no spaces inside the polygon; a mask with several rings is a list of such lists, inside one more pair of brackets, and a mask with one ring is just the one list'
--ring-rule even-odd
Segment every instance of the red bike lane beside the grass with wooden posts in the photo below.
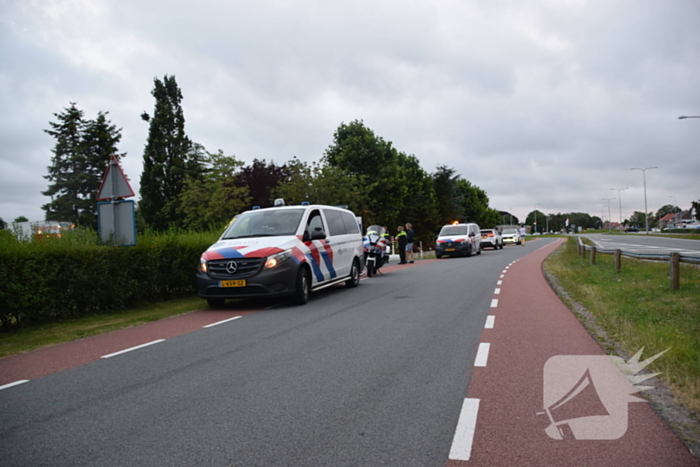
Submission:
{"label": "red bike lane beside the grass with wooden posts", "polygon": [[[542,262],[562,242],[544,246],[502,272],[489,313],[493,318],[487,321],[480,340],[480,347],[488,344],[487,357],[477,356],[463,408],[466,422],[460,417],[463,426],[457,429],[447,465],[700,465],[700,460],[646,402],[625,402],[627,419],[608,417],[608,421],[599,425],[598,433],[588,439],[553,439],[545,433],[545,428],[553,422],[548,417],[553,410],[545,412],[543,402],[544,368],[550,357],[605,355],[552,291],[542,273]],[[642,359],[650,356],[642,355]],[[566,367],[558,371],[569,372]],[[552,377],[552,373],[547,374]],[[596,385],[605,389],[600,381]],[[573,412],[578,411],[579,417],[585,416],[586,404],[590,406],[591,401],[596,402],[594,387],[582,390],[576,394],[580,400],[571,397],[562,407],[569,405],[567,408],[575,408]],[[633,388],[630,386],[630,389]],[[600,394],[602,390],[598,391]],[[600,397],[598,399],[600,406]],[[621,423],[624,428],[625,422],[627,429],[621,431],[624,433],[621,437],[592,439],[605,438],[606,430],[612,428],[611,423]],[[462,446],[455,447],[460,436],[471,439],[466,443],[463,439]]]}

